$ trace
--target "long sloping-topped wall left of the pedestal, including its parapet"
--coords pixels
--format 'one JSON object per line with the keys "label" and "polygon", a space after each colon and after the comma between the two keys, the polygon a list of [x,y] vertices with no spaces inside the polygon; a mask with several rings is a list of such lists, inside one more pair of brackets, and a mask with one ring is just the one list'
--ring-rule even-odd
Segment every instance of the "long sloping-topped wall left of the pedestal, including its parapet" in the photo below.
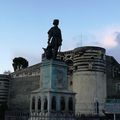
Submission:
{"label": "long sloping-topped wall left of the pedestal, including its parapet", "polygon": [[10,110],[30,110],[30,94],[40,86],[40,64],[11,74],[9,89]]}

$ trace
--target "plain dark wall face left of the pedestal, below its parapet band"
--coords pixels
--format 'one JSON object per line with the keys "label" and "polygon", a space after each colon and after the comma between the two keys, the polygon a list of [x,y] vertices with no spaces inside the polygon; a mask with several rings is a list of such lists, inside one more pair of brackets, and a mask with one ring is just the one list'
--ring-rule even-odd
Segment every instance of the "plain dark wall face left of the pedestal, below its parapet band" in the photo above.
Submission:
{"label": "plain dark wall face left of the pedestal, below its parapet band", "polygon": [[10,81],[9,109],[25,110],[30,108],[30,94],[39,88],[40,76],[13,78]]}

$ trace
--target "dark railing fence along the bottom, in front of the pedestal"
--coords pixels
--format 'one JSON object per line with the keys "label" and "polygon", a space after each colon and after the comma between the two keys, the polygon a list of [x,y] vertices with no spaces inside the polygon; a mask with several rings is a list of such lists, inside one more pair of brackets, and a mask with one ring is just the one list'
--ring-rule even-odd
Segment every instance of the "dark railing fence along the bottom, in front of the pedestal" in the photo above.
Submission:
{"label": "dark railing fence along the bottom, in front of the pedestal", "polygon": [[72,113],[6,112],[5,120],[105,120],[104,117]]}

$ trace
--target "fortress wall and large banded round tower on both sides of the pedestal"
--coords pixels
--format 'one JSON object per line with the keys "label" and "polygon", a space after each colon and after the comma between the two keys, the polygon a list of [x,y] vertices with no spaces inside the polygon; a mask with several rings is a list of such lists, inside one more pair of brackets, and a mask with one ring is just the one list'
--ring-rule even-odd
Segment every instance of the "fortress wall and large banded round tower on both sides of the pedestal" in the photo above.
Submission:
{"label": "fortress wall and large banded round tower on both sides of the pedestal", "polygon": [[[108,95],[106,94],[106,78],[108,78],[106,69],[109,69],[110,62],[106,66],[105,49],[94,46],[79,47],[60,52],[58,59],[68,65],[68,88],[77,93],[76,112],[85,113],[88,110],[86,113],[90,111],[92,114],[95,113],[95,103],[104,103]],[[119,68],[119,65],[117,67]],[[11,77],[9,109],[29,111],[30,93],[39,88],[40,63],[13,72]],[[100,109],[102,110],[102,107]]]}

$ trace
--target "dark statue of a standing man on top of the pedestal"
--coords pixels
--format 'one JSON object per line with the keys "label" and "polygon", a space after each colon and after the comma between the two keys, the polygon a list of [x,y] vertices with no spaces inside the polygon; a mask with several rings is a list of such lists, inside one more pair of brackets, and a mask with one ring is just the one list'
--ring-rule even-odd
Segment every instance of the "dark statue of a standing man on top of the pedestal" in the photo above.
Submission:
{"label": "dark statue of a standing man on top of the pedestal", "polygon": [[58,49],[62,45],[62,35],[60,28],[58,28],[58,19],[53,21],[53,25],[54,26],[48,31],[48,46],[52,48],[52,58],[56,59]]}

